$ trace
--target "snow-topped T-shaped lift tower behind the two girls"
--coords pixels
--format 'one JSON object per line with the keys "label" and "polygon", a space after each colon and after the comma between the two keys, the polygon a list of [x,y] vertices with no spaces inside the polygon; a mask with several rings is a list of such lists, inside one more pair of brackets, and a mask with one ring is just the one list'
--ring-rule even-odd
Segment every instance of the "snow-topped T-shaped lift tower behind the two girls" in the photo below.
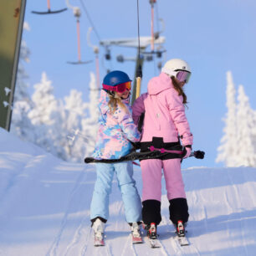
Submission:
{"label": "snow-topped T-shaped lift tower behind the two girls", "polygon": [[[141,69],[143,65],[143,52],[145,52],[146,48],[151,45],[152,38],[151,37],[140,37],[140,50],[141,56],[137,54],[136,57],[136,69],[135,69],[135,79],[134,85],[132,86],[132,98],[131,103],[136,100],[136,70],[138,69],[139,65],[141,64]],[[158,37],[155,38],[154,44],[163,44],[165,42],[165,37]],[[120,46],[120,47],[130,47],[138,49],[139,53],[139,43],[138,38],[120,38],[120,39],[107,39],[101,40],[100,45],[108,49],[111,45]],[[152,54],[156,54],[156,52],[152,52]]]}

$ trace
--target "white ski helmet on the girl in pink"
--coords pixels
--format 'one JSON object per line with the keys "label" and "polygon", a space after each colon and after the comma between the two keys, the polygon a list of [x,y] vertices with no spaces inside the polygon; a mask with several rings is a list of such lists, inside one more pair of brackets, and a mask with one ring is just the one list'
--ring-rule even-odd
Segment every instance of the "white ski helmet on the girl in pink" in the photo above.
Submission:
{"label": "white ski helmet on the girl in pink", "polygon": [[188,73],[191,73],[191,69],[185,60],[170,59],[161,69],[161,72],[175,77],[179,71],[187,71]]}

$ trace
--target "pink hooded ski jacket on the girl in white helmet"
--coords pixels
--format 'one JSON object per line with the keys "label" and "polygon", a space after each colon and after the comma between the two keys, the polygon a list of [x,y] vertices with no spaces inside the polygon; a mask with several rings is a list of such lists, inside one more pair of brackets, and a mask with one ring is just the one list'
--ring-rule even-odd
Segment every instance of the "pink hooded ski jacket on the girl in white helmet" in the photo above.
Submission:
{"label": "pink hooded ski jacket on the girl in white helmet", "polygon": [[152,78],[147,93],[141,95],[132,106],[132,117],[136,125],[145,112],[141,142],[152,141],[152,137],[162,137],[165,143],[177,142],[178,135],[182,145],[192,145],[190,131],[182,95],[172,85],[172,79],[165,73]]}

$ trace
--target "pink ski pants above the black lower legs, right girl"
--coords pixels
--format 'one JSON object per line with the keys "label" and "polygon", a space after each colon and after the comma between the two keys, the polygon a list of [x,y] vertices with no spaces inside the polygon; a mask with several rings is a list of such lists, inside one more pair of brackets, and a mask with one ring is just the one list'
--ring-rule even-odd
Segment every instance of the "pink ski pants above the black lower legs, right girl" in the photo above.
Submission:
{"label": "pink ski pants above the black lower legs, right girl", "polygon": [[166,180],[167,198],[186,198],[180,159],[148,159],[141,161],[142,201],[154,199],[161,202],[161,169]]}

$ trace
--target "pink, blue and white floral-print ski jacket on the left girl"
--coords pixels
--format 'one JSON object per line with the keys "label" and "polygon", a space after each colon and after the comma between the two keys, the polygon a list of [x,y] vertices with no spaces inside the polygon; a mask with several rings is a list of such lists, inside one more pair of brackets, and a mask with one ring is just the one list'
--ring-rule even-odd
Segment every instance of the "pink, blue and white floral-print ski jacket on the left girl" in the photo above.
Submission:
{"label": "pink, blue and white floral-print ski jacket on the left girl", "polygon": [[118,159],[131,152],[131,142],[140,141],[141,134],[137,130],[131,116],[131,107],[124,102],[127,111],[117,106],[115,113],[110,114],[109,96],[101,90],[99,131],[93,157],[96,159]]}

